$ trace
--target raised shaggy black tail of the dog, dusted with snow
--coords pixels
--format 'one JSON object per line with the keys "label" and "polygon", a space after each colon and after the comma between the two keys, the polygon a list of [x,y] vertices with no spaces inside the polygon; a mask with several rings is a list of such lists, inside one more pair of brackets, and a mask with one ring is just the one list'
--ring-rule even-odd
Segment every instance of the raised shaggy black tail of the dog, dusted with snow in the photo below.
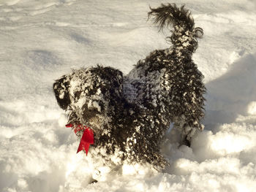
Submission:
{"label": "raised shaggy black tail of the dog, dusted with snow", "polygon": [[191,12],[184,6],[178,8],[176,4],[162,4],[161,7],[151,9],[148,12],[148,19],[153,16],[154,24],[159,26],[159,30],[165,26],[172,25],[173,34],[167,39],[172,42],[174,48],[187,50],[194,53],[197,49],[197,38],[203,37],[203,29],[195,28],[194,19]]}

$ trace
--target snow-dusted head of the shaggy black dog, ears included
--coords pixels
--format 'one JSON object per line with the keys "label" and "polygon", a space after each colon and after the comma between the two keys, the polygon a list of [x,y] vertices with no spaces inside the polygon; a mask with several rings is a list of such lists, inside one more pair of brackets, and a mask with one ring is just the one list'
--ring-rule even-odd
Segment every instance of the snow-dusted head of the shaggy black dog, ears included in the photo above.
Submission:
{"label": "snow-dusted head of the shaggy black dog, ears included", "polygon": [[118,112],[122,99],[122,73],[110,67],[78,69],[53,84],[56,100],[69,112],[69,123],[104,128]]}

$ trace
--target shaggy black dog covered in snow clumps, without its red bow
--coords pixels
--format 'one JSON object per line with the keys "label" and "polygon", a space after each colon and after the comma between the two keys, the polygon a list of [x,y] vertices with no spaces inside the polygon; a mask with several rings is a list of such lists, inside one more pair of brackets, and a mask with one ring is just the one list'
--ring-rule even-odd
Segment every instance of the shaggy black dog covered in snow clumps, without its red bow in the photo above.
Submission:
{"label": "shaggy black dog covered in snow clumps, without its red bow", "polygon": [[187,9],[175,4],[151,9],[148,17],[154,17],[159,28],[173,26],[170,48],[154,50],[125,76],[118,69],[94,66],[74,70],[53,84],[68,123],[94,130],[89,153],[106,163],[126,160],[162,168],[167,161],[159,150],[170,123],[181,131],[186,145],[203,130],[206,88],[192,61],[203,30],[194,27]]}

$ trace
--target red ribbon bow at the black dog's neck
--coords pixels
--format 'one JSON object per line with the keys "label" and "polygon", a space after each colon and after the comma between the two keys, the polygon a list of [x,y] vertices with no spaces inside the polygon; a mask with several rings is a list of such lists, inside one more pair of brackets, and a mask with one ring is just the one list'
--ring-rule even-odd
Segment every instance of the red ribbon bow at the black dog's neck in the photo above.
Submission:
{"label": "red ribbon bow at the black dog's neck", "polygon": [[[74,125],[72,123],[69,123],[66,125],[66,127],[73,128]],[[94,131],[92,131],[91,128],[89,128],[87,126],[83,126],[81,124],[78,124],[74,128],[75,134],[77,134],[77,132],[81,131],[81,130],[83,130],[83,136],[80,140],[80,144],[79,144],[77,153],[80,152],[80,150],[86,150],[86,155],[87,155],[90,145],[94,144]]]}

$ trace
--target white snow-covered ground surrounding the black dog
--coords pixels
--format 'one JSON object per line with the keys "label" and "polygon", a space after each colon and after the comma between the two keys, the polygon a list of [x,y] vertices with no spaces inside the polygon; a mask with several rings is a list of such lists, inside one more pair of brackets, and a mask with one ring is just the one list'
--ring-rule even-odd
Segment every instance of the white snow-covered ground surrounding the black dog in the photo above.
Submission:
{"label": "white snow-covered ground surrounding the black dog", "polygon": [[162,173],[124,165],[88,185],[94,165],[75,154],[53,80],[94,64],[127,73],[167,47],[167,31],[146,22],[159,1],[0,0],[0,191],[255,191],[256,2],[175,2],[205,32],[194,60],[208,88],[206,129],[192,147],[167,142]]}

